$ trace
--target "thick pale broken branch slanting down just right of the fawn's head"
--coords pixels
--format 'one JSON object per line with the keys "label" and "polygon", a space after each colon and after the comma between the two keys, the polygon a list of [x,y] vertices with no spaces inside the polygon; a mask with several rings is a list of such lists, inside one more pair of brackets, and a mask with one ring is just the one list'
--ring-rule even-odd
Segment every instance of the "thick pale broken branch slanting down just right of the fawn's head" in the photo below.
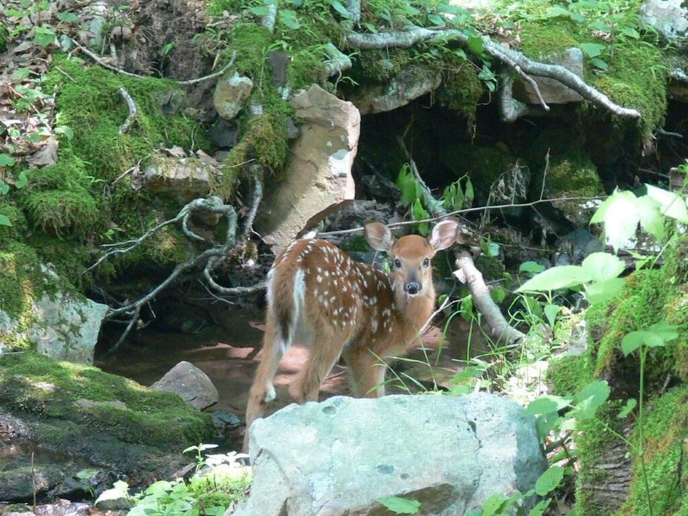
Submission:
{"label": "thick pale broken branch slanting down just right of the fawn's head", "polygon": [[475,268],[471,255],[466,251],[460,251],[454,263],[456,266],[454,276],[471,290],[475,308],[482,314],[491,336],[510,344],[525,341],[526,334],[509,325],[502,311],[492,300],[490,289],[487,288],[480,270]]}

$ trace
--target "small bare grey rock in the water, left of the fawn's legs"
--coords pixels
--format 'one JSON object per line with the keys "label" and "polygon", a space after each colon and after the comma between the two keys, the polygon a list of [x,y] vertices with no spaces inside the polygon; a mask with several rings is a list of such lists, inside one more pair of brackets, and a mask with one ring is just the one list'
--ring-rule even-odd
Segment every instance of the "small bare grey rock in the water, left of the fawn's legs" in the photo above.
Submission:
{"label": "small bare grey rock in the water, left of the fawn's legs", "polygon": [[151,385],[156,391],[169,391],[197,409],[217,403],[217,388],[204,372],[195,365],[182,361]]}

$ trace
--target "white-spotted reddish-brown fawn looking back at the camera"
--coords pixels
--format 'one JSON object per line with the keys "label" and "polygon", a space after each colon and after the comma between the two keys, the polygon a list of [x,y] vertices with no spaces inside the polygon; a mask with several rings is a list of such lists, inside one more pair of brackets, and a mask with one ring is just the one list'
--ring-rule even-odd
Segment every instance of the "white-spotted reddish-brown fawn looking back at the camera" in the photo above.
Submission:
{"label": "white-spotted reddish-brown fawn looking back at the camera", "polygon": [[384,224],[366,224],[368,244],[389,254],[389,275],[324,240],[297,240],[279,253],[268,272],[264,356],[248,398],[245,450],[250,424],[275,399],[272,379],[294,341],[310,345],[308,362],[289,387],[297,403],[317,400],[339,356],[350,368],[354,394],[384,396],[380,360],[405,354],[427,323],[435,307],[430,261],[454,243],[458,229],[457,219],[447,219],[428,239],[396,239]]}

